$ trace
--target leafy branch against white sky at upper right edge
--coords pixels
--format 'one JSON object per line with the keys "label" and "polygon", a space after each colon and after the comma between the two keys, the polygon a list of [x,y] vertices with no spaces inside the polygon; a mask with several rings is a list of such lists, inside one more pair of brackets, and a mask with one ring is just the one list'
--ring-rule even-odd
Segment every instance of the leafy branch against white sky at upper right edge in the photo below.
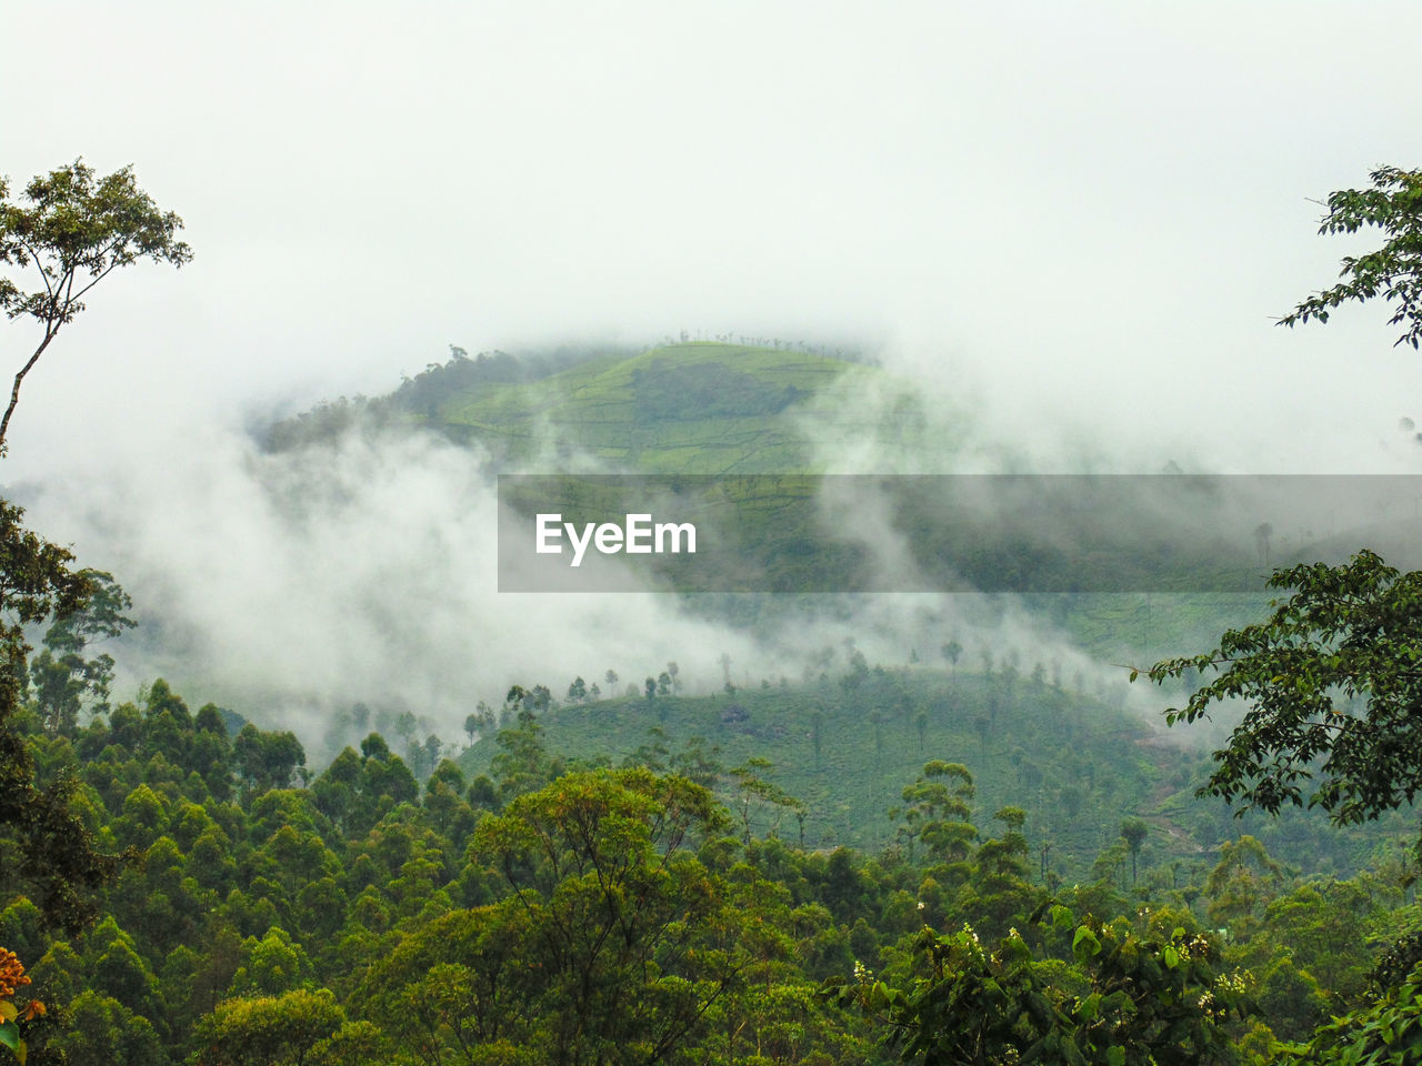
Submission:
{"label": "leafy branch against white sky at upper right edge", "polygon": [[1318,232],[1357,233],[1376,226],[1386,242],[1365,256],[1344,256],[1342,280],[1304,300],[1278,324],[1293,327],[1310,318],[1327,323],[1334,307],[1381,294],[1396,304],[1388,324],[1406,324],[1395,345],[1416,348],[1422,344],[1422,171],[1382,166],[1369,178],[1371,189],[1341,189],[1328,196],[1328,213]]}

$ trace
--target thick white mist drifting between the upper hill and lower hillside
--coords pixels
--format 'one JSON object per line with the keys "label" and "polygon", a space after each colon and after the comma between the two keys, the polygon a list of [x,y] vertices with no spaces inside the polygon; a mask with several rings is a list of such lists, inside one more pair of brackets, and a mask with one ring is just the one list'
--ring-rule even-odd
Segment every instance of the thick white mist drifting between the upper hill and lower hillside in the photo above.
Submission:
{"label": "thick white mist drifting between the upper hill and lower hillside", "polygon": [[[869,418],[873,408],[857,411]],[[977,443],[970,438],[970,456],[985,451]],[[902,442],[876,446],[862,435],[819,441],[815,462],[892,469],[900,455]],[[721,689],[722,655],[738,687],[755,687],[818,675],[826,650],[836,674],[846,640],[890,667],[933,665],[956,640],[970,664],[1051,661],[1143,716],[1160,704],[1146,687],[1126,692],[1122,662],[1092,661],[1001,597],[820,596],[791,625],[745,628],[667,593],[501,593],[488,456],[432,432],[357,426],[269,452],[253,435],[210,425],[181,449],[154,441],[124,458],[134,466],[17,486],[37,529],[63,530],[82,563],[112,570],[135,600],[141,625],[114,650],[121,699],[165,677],[195,701],[296,728],[309,742],[356,702],[412,709],[449,741],[481,701],[498,706],[513,684],[560,695],[574,675],[593,684],[613,669],[620,682],[607,695],[620,695],[675,661],[687,691],[705,694]],[[550,462],[533,456],[529,468]],[[587,455],[559,462],[607,469]],[[822,503],[842,536],[873,546],[880,580],[892,586],[913,570],[882,509],[833,495]],[[623,584],[651,583],[629,570]]]}

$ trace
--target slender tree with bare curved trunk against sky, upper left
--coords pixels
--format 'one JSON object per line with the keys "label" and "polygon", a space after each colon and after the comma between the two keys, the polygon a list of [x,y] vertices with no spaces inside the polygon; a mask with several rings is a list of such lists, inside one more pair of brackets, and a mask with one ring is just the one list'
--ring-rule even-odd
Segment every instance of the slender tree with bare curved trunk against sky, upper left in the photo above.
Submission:
{"label": "slender tree with bare curved trunk against sky, upper left", "polygon": [[31,181],[10,199],[0,178],[0,264],[40,276],[40,287],[24,290],[0,277],[0,308],[10,318],[28,316],[44,328],[38,347],[14,375],[10,404],[0,416],[0,455],[20,402],[20,385],[34,370],[60,328],[84,310],[84,296],[104,277],[141,259],[181,267],[192,249],[178,240],[182,219],[159,210],[138,188],[134,168],[97,178],[82,159]]}

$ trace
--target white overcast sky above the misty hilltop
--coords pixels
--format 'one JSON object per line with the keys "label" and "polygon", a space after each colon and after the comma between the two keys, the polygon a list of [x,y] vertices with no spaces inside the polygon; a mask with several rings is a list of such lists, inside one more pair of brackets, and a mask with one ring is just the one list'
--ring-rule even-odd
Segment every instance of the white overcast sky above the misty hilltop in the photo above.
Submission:
{"label": "white overcast sky above the misty hilltop", "polygon": [[680,328],[882,338],[1015,428],[1226,469],[1416,465],[1381,307],[1271,324],[1358,247],[1310,198],[1422,165],[1415,1],[138,0],[3,37],[0,172],[134,163],[196,252],[95,290],[7,479],[449,343]]}

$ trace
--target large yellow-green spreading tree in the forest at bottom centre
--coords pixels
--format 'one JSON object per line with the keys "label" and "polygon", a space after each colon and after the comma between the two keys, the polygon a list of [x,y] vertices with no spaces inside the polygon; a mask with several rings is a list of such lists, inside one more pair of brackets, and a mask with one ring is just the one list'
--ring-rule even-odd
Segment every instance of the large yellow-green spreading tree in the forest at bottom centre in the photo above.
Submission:
{"label": "large yellow-green spreading tree in the forest at bottom centre", "polygon": [[729,887],[691,853],[724,829],[707,789],[644,769],[566,775],[481,822],[471,856],[512,894],[479,928],[513,922],[519,961],[503,965],[502,947],[488,967],[469,952],[429,959],[454,964],[449,981],[476,981],[459,1018],[447,1011],[451,1035],[506,1032],[493,1013],[471,1018],[482,996],[506,1026],[538,1019],[520,1040],[538,1062],[690,1060],[754,938]]}

